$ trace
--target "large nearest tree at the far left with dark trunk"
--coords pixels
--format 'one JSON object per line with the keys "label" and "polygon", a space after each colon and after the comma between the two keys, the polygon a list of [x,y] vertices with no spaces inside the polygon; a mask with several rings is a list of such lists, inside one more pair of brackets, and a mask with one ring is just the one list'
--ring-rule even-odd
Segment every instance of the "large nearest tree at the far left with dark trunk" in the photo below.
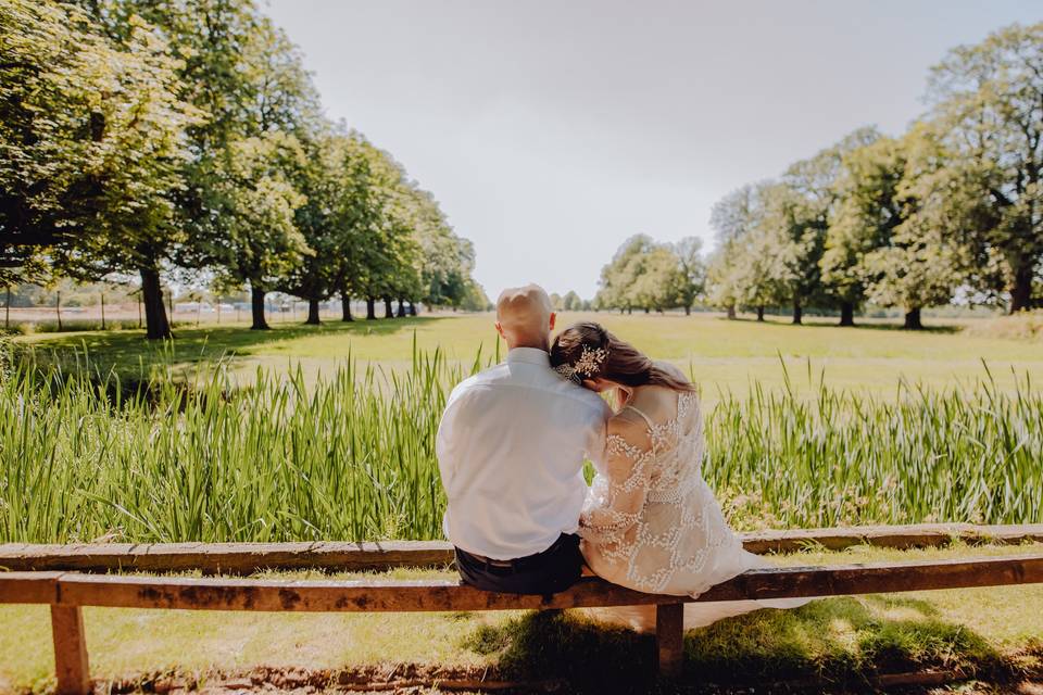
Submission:
{"label": "large nearest tree at the far left with dark trunk", "polygon": [[[84,280],[141,277],[148,334],[169,334],[159,271],[183,232],[186,128],[181,63],[137,16],[117,39],[56,2],[0,7],[0,266],[12,279],[51,269]],[[3,267],[0,267],[3,273]]]}

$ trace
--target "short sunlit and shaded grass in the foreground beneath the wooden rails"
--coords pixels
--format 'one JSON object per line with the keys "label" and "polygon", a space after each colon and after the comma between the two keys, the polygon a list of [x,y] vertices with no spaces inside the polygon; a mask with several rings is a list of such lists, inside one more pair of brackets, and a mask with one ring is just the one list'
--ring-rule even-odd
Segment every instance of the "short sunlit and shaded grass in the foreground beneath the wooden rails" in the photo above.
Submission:
{"label": "short sunlit and shaded grass in the foreground beneath the wooden rails", "polygon": [[[1043,545],[926,551],[855,547],[777,556],[784,565],[915,560],[1039,553]],[[444,576],[400,570],[398,577]],[[292,573],[287,577],[314,574]],[[344,577],[359,577],[344,576]],[[439,665],[520,680],[568,678],[577,687],[639,682],[652,641],[564,615],[309,615],[85,610],[96,678],[163,671],[244,671],[256,666],[352,669]],[[0,607],[0,690],[51,683],[48,610]],[[1043,585],[837,597],[793,611],[763,610],[686,637],[689,682],[756,682],[959,668],[984,679],[1043,668]]]}

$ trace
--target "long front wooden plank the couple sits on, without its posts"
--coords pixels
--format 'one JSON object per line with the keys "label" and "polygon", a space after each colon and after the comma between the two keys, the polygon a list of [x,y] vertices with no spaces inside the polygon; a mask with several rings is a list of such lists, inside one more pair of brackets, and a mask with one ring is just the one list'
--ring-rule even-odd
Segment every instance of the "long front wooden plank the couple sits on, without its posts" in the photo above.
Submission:
{"label": "long front wooden plank the couple sits on, without its posts", "polygon": [[[582,578],[553,596],[485,592],[457,581],[273,581],[64,574],[63,604],[122,608],[300,611],[437,611],[677,603]],[[837,596],[1043,582],[1043,554],[966,560],[751,570],[698,601]],[[690,601],[681,598],[681,601]]]}

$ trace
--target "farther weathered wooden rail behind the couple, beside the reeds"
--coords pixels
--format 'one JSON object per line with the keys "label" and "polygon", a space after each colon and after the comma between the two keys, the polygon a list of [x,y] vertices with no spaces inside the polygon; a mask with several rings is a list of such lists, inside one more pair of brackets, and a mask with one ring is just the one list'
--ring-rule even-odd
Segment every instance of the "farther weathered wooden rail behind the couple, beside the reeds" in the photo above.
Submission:
{"label": "farther weathered wooden rail behind the couple, beside the reeds", "polygon": [[[971,526],[933,523],[838,529],[789,529],[740,534],[752,553],[781,553],[819,544],[829,549],[853,545],[891,548],[968,543],[1043,542],[1043,525]],[[261,569],[381,570],[393,567],[444,567],[453,548],[442,541],[379,543],[95,543],[74,545],[0,545],[0,567],[18,570],[169,572],[249,574]]]}

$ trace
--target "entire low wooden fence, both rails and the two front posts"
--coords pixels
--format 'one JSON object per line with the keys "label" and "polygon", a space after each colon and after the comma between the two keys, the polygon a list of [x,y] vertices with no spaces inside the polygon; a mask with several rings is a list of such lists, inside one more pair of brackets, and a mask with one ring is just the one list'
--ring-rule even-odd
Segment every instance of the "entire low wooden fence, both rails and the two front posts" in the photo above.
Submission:
{"label": "entire low wooden fence, both rails and the two front posts", "polygon": [[[955,527],[945,527],[952,531]],[[985,536],[973,527],[953,538],[992,538],[1002,542],[1043,540],[1043,527],[990,527]],[[771,540],[744,540],[761,549],[820,543],[851,545],[850,540],[880,541],[889,547],[939,545],[935,527],[834,530],[828,533],[786,532]],[[816,535],[817,534],[817,535]],[[904,540],[903,540],[904,539]],[[826,541],[826,542],[824,542]],[[774,545],[772,545],[774,544]],[[135,552],[137,548],[138,552]],[[352,549],[354,548],[354,549]],[[411,548],[415,552],[411,552]],[[216,560],[215,560],[216,558]],[[172,571],[208,565],[213,571],[231,568],[328,567],[341,570],[444,564],[443,544],[200,544],[173,546],[0,546],[0,604],[45,604],[51,607],[55,674],[60,695],[88,693],[90,678],[84,637],[84,606],[188,610],[257,611],[444,611],[560,609],[605,606],[656,606],[659,669],[676,675],[682,657],[683,604],[689,597],[634,592],[595,577],[583,577],[553,596],[483,592],[455,580],[259,580],[235,577],[180,578],[90,574],[86,570],[131,569]],[[197,563],[194,566],[189,561]],[[43,566],[50,569],[42,569]],[[1043,582],[1043,554],[916,563],[837,565],[758,569],[714,586],[699,602],[746,598],[796,598]]]}

